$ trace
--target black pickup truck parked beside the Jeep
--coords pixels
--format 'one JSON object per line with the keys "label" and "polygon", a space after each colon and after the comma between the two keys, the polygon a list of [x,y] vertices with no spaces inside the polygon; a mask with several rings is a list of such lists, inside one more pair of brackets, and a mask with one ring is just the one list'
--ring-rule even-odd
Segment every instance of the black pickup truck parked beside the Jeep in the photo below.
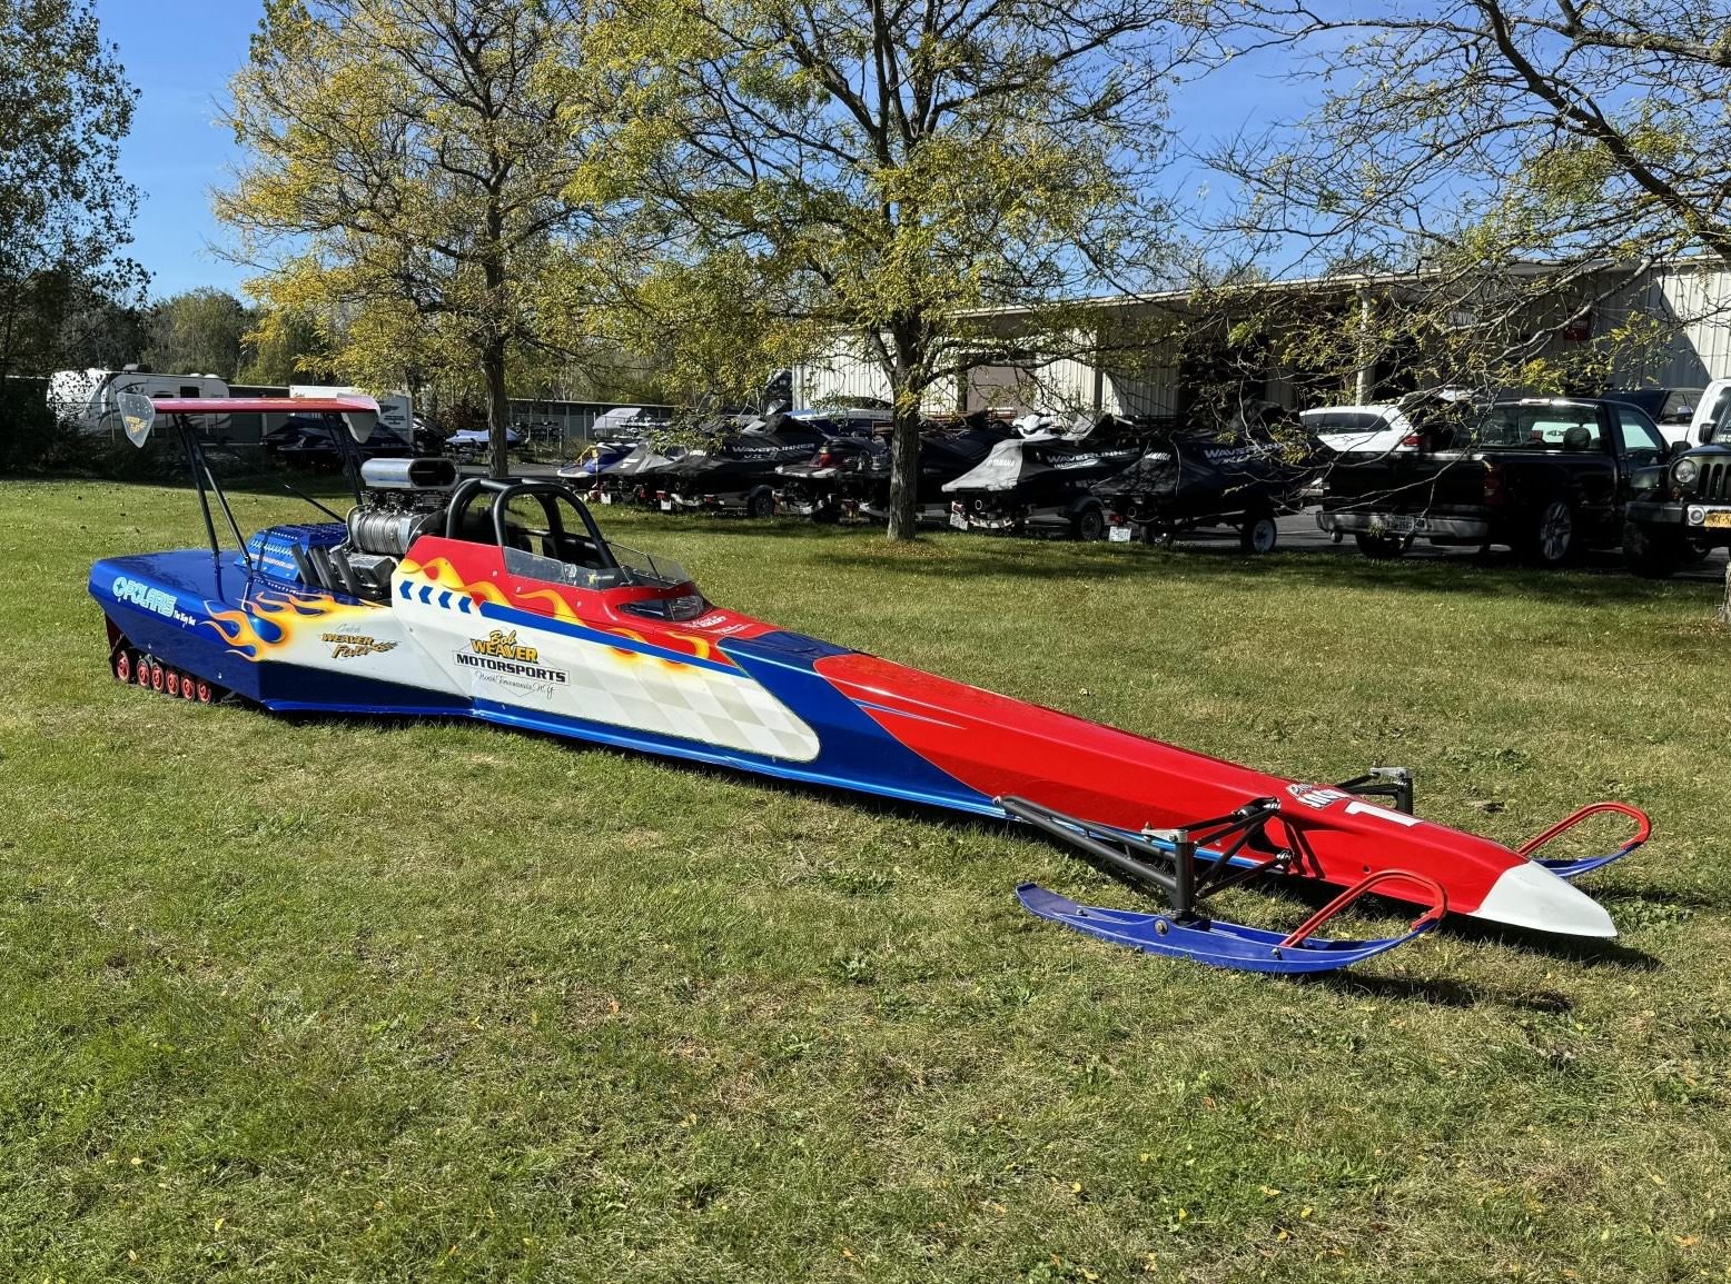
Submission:
{"label": "black pickup truck parked beside the Jeep", "polygon": [[1506,543],[1539,566],[1622,542],[1624,507],[1653,495],[1667,446],[1638,407],[1579,398],[1497,401],[1442,450],[1347,453],[1328,469],[1317,524],[1371,557],[1412,540]]}

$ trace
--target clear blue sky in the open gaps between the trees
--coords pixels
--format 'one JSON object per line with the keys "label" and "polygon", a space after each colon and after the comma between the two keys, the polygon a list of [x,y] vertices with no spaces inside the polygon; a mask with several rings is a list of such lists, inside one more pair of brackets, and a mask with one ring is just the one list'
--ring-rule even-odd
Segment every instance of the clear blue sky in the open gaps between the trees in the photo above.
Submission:
{"label": "clear blue sky in the open gaps between the trees", "polygon": [[[138,187],[138,218],[130,254],[151,273],[151,294],[166,298],[197,286],[241,292],[246,268],[213,251],[225,242],[211,216],[211,190],[222,187],[237,152],[218,123],[228,78],[246,62],[258,24],[256,0],[97,0],[107,40],[119,45],[126,78],[138,90],[132,133],[121,145],[121,173]],[[1290,111],[1291,88],[1269,59],[1212,76],[1174,102],[1172,123],[1200,135],[1231,135],[1271,111]],[[1193,197],[1207,175],[1177,177]],[[1219,199],[1219,180],[1210,199]]]}

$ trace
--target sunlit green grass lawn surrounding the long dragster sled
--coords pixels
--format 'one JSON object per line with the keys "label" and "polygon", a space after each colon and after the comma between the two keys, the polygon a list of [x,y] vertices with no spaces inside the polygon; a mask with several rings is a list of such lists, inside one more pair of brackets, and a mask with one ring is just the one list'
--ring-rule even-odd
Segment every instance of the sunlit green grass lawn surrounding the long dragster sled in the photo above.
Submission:
{"label": "sunlit green grass lawn surrounding the long dragster sled", "polygon": [[1134,898],[1001,829],[149,697],[85,573],[197,543],[190,497],[5,483],[0,1279],[1731,1277],[1712,587],[602,516],[718,602],[1300,779],[1404,763],[1499,839],[1646,806],[1587,884],[1624,934],[1217,973],[1025,915]]}

